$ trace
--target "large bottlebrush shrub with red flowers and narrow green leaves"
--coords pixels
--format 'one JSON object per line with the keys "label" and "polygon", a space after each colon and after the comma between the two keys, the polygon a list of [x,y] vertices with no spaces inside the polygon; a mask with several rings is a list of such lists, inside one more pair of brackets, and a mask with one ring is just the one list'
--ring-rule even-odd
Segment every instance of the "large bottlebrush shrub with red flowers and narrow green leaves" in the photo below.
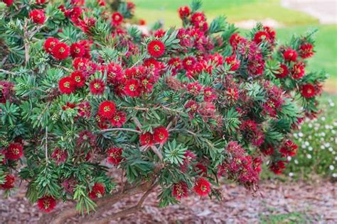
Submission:
{"label": "large bottlebrush shrub with red flowers and narrow green leaves", "polygon": [[305,71],[314,32],[280,45],[257,24],[244,37],[200,6],[178,9],[183,28],[145,35],[127,23],[131,2],[1,4],[1,189],[26,181],[46,212],[144,193],[116,218],[155,187],[168,206],[220,197],[219,177],[256,190],[262,162],[281,173],[291,131],[319,112],[326,74]]}

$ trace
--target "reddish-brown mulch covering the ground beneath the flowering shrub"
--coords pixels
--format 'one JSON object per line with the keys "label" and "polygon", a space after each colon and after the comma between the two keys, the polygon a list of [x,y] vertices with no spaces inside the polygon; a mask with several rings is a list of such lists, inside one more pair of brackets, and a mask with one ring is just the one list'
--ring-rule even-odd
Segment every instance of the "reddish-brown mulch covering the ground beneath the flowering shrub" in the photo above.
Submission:
{"label": "reddish-brown mulch covering the ground beneath the flowering shrub", "polygon": [[[159,208],[156,194],[151,194],[143,211],[112,223],[259,223],[263,216],[289,213],[301,213],[309,223],[337,223],[337,183],[268,181],[260,184],[256,196],[235,184],[222,189],[223,201],[190,196],[169,208]],[[137,198],[115,204],[107,214],[133,206]],[[0,198],[0,223],[36,223],[41,215],[21,190],[11,198]]]}

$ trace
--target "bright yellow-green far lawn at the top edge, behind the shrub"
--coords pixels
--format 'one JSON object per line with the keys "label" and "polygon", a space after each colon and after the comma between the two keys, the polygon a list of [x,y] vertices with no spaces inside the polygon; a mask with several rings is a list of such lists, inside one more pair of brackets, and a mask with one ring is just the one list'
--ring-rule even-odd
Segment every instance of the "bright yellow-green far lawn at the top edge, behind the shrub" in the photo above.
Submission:
{"label": "bright yellow-green far lawn at the top edge, behind the shrub", "polygon": [[[164,21],[166,27],[179,26],[177,9],[190,4],[190,0],[134,0],[138,15],[146,15],[147,21]],[[225,15],[231,23],[255,19],[272,18],[284,25],[317,24],[319,20],[290,9],[284,9],[279,0],[203,0],[202,10],[210,20]]]}

